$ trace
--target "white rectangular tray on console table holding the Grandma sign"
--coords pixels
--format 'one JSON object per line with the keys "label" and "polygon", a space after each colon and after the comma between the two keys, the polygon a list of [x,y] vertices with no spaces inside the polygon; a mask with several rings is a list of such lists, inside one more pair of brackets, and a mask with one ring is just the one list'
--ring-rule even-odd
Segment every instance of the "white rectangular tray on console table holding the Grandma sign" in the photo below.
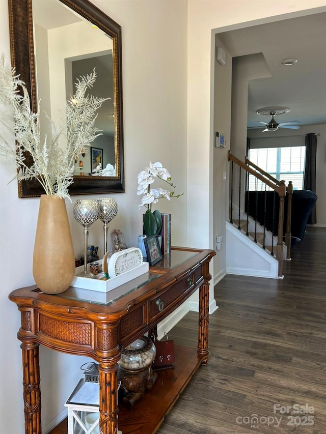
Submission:
{"label": "white rectangular tray on console table holding the Grandma sign", "polygon": [[[99,264],[102,264],[102,259],[97,261]],[[88,265],[89,269],[89,265]],[[142,274],[148,272],[148,262],[144,262],[138,267],[133,268],[132,270],[126,271],[123,274],[119,274],[119,276],[112,277],[108,280],[100,280],[103,277],[103,273],[99,273],[96,279],[88,279],[85,277],[77,277],[75,276],[70,283],[70,286],[75,288],[83,288],[85,290],[98,291],[101,293],[107,293],[108,291],[114,290],[114,288],[123,285],[129,280],[135,279]],[[76,268],[76,274],[84,271],[84,265]]]}

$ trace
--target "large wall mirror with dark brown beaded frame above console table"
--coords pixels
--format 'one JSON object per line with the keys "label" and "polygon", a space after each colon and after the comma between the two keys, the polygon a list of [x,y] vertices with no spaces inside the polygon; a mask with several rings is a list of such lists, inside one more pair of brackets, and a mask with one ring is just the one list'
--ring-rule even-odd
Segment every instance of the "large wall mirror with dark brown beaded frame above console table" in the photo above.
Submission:
{"label": "large wall mirror with dark brown beaded frame above console table", "polygon": [[[56,123],[64,119],[65,100],[75,78],[93,71],[91,93],[110,98],[98,113],[102,135],[78,156],[69,193],[124,191],[121,26],[88,0],[9,0],[11,63],[26,83],[32,109]],[[41,118],[40,118],[41,119]],[[98,176],[99,168],[110,168]],[[39,183],[18,183],[19,197],[43,193]]]}

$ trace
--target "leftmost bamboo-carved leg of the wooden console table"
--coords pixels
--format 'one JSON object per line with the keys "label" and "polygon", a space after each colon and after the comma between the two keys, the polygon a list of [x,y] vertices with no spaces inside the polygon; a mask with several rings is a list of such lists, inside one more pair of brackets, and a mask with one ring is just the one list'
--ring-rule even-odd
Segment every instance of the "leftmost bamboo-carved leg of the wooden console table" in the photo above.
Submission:
{"label": "leftmost bamboo-carved leg of the wooden console table", "polygon": [[22,342],[25,434],[41,434],[39,344]]}

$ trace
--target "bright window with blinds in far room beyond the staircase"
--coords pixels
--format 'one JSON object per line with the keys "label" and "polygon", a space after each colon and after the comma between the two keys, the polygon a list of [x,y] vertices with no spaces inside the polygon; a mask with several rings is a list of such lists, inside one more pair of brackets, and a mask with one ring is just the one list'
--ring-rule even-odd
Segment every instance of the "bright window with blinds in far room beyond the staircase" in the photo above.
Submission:
{"label": "bright window with blinds in far room beyond the staircase", "polygon": [[[287,185],[292,181],[293,190],[302,190],[306,158],[305,146],[290,146],[282,148],[258,148],[249,150],[249,160],[269,175],[284,180]],[[261,182],[249,175],[249,190],[260,190]],[[265,188],[265,187],[264,187]]]}

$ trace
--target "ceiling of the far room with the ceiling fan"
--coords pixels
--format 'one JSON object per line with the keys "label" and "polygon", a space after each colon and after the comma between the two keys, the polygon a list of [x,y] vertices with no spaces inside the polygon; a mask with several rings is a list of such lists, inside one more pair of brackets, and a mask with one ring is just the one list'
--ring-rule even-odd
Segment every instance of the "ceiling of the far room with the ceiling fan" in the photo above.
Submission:
{"label": "ceiling of the far room with the ceiling fan", "polygon": [[[290,108],[278,122],[326,124],[326,13],[261,24],[218,37],[232,55],[262,53],[271,77],[249,82],[248,127],[269,117],[257,114],[263,107]],[[297,59],[283,66],[284,59]]]}

